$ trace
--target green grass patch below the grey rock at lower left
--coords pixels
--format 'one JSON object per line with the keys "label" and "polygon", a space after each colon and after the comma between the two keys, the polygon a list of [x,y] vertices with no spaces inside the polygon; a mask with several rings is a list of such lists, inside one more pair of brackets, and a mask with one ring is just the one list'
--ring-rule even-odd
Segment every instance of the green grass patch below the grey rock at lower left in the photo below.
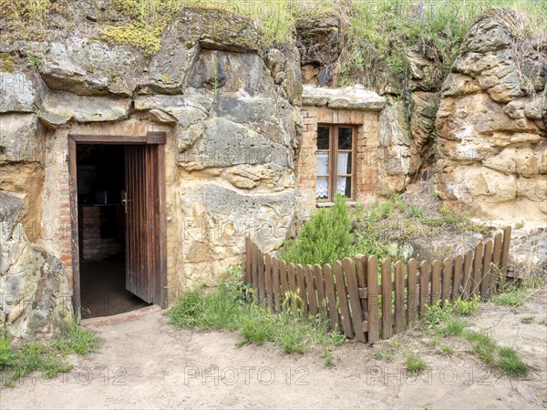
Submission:
{"label": "green grass patch below the grey rock at lower left", "polygon": [[88,354],[98,349],[98,337],[77,324],[69,325],[63,336],[48,342],[28,342],[14,346],[9,338],[0,337],[0,371],[5,372],[5,385],[33,372],[45,378],[72,370],[68,354]]}

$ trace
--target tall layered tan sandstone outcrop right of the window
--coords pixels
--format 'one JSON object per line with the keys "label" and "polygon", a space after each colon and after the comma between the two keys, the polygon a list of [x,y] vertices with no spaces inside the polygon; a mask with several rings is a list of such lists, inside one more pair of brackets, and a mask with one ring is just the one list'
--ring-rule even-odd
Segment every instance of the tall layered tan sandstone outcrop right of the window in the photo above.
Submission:
{"label": "tall layered tan sandstone outcrop right of the window", "polygon": [[438,190],[485,216],[544,220],[547,59],[515,41],[496,15],[470,29],[437,113]]}

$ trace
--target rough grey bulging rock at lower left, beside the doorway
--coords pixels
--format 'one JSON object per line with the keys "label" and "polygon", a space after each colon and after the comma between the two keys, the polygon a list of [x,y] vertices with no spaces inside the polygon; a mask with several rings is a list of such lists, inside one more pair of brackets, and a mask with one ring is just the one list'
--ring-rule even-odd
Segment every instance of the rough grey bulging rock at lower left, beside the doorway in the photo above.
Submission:
{"label": "rough grey bulging rock at lower left, beside the doorway", "polygon": [[0,191],[0,325],[15,336],[47,337],[72,320],[71,293],[63,263],[26,238],[23,205]]}

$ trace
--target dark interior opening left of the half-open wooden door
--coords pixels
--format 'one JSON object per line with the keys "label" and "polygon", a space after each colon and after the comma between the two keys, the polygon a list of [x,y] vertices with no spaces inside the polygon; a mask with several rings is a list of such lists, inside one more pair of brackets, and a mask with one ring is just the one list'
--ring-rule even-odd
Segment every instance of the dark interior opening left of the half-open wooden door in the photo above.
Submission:
{"label": "dark interior opening left of the half-open wooden door", "polygon": [[126,289],[125,146],[77,145],[78,244],[83,317],[147,306]]}

